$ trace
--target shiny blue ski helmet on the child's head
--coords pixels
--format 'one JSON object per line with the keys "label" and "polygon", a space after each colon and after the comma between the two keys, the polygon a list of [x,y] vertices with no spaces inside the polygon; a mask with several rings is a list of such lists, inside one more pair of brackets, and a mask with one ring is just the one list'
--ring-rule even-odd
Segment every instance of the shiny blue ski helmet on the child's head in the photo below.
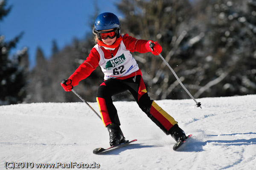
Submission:
{"label": "shiny blue ski helmet on the child's head", "polygon": [[104,12],[96,17],[94,23],[94,30],[105,30],[105,29],[120,29],[120,23],[118,17],[111,12]]}

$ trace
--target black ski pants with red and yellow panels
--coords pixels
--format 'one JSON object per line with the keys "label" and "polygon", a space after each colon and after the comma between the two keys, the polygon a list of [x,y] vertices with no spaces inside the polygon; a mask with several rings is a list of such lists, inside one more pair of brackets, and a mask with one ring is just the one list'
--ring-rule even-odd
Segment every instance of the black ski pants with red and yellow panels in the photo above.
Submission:
{"label": "black ski pants with red and yellow panels", "polygon": [[125,92],[126,90],[131,92],[140,109],[142,109],[160,129],[169,135],[169,129],[177,124],[177,122],[149,98],[141,75],[124,80],[108,79],[99,86],[96,99],[105,127],[111,123],[120,125],[116,107],[113,105],[112,96]]}

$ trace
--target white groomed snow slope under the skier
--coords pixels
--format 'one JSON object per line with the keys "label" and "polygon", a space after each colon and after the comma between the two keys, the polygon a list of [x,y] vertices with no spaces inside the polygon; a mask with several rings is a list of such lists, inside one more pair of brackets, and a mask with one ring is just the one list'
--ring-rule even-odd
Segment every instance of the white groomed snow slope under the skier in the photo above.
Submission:
{"label": "white groomed snow slope under the skier", "polygon": [[[256,166],[256,95],[156,101],[187,135],[180,151],[136,102],[114,102],[121,128],[134,144],[104,155],[107,129],[84,103],[0,106],[0,169],[5,162],[88,163],[102,170],[248,170]],[[89,103],[98,111],[97,103]],[[36,169],[35,167],[33,169]]]}

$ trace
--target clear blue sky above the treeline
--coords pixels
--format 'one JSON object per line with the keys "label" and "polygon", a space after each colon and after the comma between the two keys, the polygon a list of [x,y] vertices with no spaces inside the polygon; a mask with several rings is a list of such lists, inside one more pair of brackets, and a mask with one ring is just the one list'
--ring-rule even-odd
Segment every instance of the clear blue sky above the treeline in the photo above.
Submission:
{"label": "clear blue sky above the treeline", "polygon": [[113,12],[114,3],[119,0],[7,0],[11,12],[0,22],[0,35],[9,41],[20,32],[23,37],[11,54],[29,48],[30,65],[35,64],[37,47],[43,49],[46,58],[52,50],[52,40],[56,40],[59,49],[73,42],[74,37],[81,39],[92,31],[94,3],[99,13]]}

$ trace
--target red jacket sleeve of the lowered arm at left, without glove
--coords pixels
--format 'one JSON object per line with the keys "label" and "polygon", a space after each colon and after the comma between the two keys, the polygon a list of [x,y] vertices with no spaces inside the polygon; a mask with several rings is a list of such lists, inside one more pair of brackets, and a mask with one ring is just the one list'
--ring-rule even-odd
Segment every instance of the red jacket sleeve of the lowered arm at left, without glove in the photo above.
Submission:
{"label": "red jacket sleeve of the lowered arm at left, without glove", "polygon": [[81,63],[76,71],[70,75],[69,78],[72,80],[71,85],[76,86],[79,84],[79,81],[87,78],[99,65],[99,59],[99,52],[93,48],[84,63]]}

